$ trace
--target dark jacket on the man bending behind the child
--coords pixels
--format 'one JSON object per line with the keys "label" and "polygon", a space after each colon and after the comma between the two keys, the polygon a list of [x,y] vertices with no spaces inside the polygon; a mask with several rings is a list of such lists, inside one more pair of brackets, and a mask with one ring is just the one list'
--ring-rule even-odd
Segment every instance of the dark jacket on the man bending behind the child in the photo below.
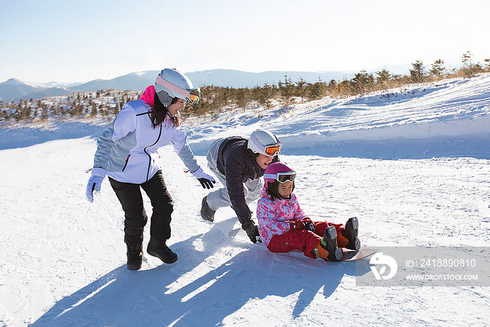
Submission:
{"label": "dark jacket on the man bending behind the child", "polygon": [[[218,149],[216,160],[218,170],[226,177],[226,188],[233,209],[240,223],[251,218],[250,210],[245,202],[244,183],[248,179],[258,179],[264,176],[262,169],[255,161],[254,153],[247,151],[247,140],[242,137],[227,137]],[[274,156],[272,162],[279,161]]]}

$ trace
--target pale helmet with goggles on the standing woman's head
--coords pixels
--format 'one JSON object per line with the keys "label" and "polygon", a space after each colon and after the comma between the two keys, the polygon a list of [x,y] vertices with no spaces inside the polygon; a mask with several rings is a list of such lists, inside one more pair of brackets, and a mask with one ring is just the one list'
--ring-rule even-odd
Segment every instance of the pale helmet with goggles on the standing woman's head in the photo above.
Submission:
{"label": "pale helmet with goggles on the standing woman's head", "polygon": [[199,102],[201,97],[200,88],[194,88],[193,82],[174,68],[160,71],[155,81],[155,92],[164,106],[172,104],[174,97],[194,104]]}

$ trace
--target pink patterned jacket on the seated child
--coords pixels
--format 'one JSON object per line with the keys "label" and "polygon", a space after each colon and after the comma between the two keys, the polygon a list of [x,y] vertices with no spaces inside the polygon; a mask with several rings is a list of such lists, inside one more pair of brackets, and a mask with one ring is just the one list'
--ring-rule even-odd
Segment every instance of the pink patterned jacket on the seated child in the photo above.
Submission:
{"label": "pink patterned jacket on the seated child", "polygon": [[260,190],[260,199],[257,202],[258,232],[265,246],[269,245],[274,235],[281,235],[290,230],[286,221],[300,221],[307,218],[297,202],[296,195],[291,194],[290,200],[271,200],[265,188]]}

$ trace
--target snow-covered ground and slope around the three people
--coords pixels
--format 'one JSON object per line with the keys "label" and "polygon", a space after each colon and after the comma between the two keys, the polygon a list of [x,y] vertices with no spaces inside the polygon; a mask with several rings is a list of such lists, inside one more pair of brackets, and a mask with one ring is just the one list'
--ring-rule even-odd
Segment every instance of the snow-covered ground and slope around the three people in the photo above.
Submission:
{"label": "snow-covered ground and slope around the three people", "polygon": [[[490,246],[490,74],[260,119],[235,111],[186,123],[204,167],[214,139],[275,132],[281,160],[298,173],[304,211],[338,223],[358,216],[363,245]],[[84,197],[98,130],[0,130],[0,326],[490,324],[488,286],[358,287],[353,263],[230,238],[239,227],[234,212],[202,221],[208,191],[171,147],[159,152],[174,198],[168,244],[179,260],[165,265],[145,254],[130,272],[123,211],[109,183],[93,204]]]}

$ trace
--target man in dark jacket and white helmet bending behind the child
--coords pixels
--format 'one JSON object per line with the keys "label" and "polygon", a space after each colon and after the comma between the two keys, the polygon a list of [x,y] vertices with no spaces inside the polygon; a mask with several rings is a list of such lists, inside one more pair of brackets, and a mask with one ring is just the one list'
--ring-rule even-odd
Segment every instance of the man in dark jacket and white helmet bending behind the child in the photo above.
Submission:
{"label": "man in dark jacket and white helmet bending behind the child", "polygon": [[225,188],[202,199],[202,218],[212,222],[218,208],[231,205],[251,241],[260,242],[247,203],[258,199],[263,184],[260,177],[270,163],[279,161],[281,146],[279,139],[267,130],[255,130],[248,140],[227,137],[214,141],[207,152],[208,165]]}

